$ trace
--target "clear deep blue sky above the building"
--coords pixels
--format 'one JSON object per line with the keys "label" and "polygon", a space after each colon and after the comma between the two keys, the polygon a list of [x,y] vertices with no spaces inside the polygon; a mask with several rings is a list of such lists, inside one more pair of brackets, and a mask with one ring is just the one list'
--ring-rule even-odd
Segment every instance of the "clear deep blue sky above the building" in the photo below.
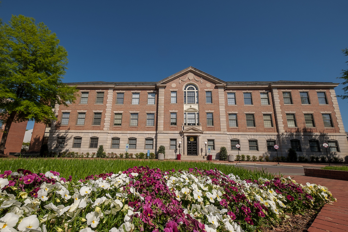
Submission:
{"label": "clear deep blue sky above the building", "polygon": [[[193,66],[224,81],[339,83],[347,8],[347,0],[2,0],[0,18],[22,14],[55,32],[69,54],[64,82],[158,81]],[[347,100],[338,101],[348,131]]]}

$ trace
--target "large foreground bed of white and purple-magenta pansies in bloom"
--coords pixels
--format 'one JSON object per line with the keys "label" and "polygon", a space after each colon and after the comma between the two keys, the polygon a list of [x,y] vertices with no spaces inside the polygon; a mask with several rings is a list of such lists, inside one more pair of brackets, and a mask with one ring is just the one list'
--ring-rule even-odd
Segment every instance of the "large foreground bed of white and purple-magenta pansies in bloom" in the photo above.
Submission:
{"label": "large foreground bed of white and purple-magenta pansies in bloom", "polygon": [[242,180],[218,170],[134,167],[74,183],[55,171],[0,175],[1,232],[254,231],[334,201],[290,177]]}

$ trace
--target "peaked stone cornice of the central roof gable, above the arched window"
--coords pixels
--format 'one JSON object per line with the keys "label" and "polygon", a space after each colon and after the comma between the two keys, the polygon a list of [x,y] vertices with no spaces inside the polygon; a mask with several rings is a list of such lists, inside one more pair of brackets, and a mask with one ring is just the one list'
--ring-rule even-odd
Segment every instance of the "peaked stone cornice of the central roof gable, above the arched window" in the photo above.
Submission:
{"label": "peaked stone cornice of the central roof gable, above the arched window", "polygon": [[199,69],[196,69],[192,66],[184,69],[184,70],[181,70],[180,72],[177,72],[163,80],[160,80],[156,83],[156,85],[163,85],[163,84],[166,84],[174,79],[177,79],[179,77],[182,77],[183,75],[187,74],[187,73],[192,73],[194,75],[197,75],[198,77],[200,78],[203,78],[209,82],[212,82],[212,83],[215,83],[215,84],[222,84],[222,85],[227,85],[227,82],[226,81],[223,81],[223,80],[220,80],[219,78],[216,78],[212,75],[209,75],[208,73],[205,73],[203,71],[200,71]]}

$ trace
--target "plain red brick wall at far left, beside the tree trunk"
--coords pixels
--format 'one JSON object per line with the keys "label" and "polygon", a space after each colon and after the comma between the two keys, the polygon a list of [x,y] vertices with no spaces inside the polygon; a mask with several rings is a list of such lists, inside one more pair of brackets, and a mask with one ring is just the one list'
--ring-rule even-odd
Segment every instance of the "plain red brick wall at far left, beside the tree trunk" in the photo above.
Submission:
{"label": "plain red brick wall at far left, beside the tree trunk", "polygon": [[[9,152],[21,152],[27,123],[28,121],[18,122],[18,123],[13,122],[11,124],[11,128],[8,133],[6,144],[5,144],[5,147],[6,147],[4,151],[5,154]],[[3,134],[2,131],[3,130],[0,130],[0,139],[2,138],[2,134]]]}

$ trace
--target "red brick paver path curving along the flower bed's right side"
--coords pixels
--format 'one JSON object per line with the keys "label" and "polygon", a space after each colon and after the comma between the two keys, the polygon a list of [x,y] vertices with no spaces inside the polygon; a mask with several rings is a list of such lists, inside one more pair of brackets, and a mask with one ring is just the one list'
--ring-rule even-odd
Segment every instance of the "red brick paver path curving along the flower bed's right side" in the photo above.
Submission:
{"label": "red brick paver path curving along the flower bed's right side", "polygon": [[308,232],[347,232],[348,231],[348,182],[310,176],[291,176],[297,183],[320,184],[326,186],[337,202],[326,204]]}

